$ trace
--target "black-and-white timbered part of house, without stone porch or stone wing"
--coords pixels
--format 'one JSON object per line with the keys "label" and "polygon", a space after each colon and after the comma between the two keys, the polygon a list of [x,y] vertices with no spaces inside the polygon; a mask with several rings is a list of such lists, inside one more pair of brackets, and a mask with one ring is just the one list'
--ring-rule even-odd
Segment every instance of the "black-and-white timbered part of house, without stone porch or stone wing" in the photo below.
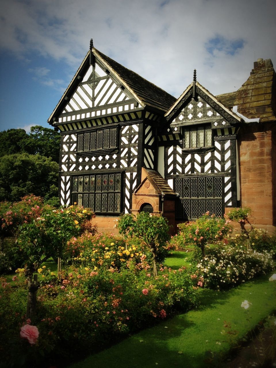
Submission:
{"label": "black-and-white timbered part of house, without stone porch or stone wing", "polygon": [[91,46],[48,122],[61,132],[62,205],[130,213],[145,167],[178,194],[176,219],[237,206],[243,121],[195,76],[176,100]]}

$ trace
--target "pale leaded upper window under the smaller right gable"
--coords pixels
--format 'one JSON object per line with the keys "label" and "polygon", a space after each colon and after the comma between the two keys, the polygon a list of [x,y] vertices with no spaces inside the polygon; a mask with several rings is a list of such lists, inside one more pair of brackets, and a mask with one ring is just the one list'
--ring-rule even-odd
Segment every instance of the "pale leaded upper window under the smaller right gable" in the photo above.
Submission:
{"label": "pale leaded upper window under the smaller right gable", "polygon": [[209,146],[212,146],[212,130],[210,125],[183,128],[183,148]]}

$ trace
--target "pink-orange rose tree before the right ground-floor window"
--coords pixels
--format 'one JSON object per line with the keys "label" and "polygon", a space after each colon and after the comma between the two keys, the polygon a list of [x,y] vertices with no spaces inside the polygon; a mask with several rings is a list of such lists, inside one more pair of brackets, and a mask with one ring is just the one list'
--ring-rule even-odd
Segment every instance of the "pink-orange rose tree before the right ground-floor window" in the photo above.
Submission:
{"label": "pink-orange rose tree before the right ground-floor window", "polygon": [[195,222],[185,222],[177,225],[179,234],[173,238],[180,248],[188,245],[195,245],[201,249],[202,255],[205,254],[205,245],[214,244],[228,236],[232,231],[230,221],[224,218],[210,216],[206,212],[201,218]]}

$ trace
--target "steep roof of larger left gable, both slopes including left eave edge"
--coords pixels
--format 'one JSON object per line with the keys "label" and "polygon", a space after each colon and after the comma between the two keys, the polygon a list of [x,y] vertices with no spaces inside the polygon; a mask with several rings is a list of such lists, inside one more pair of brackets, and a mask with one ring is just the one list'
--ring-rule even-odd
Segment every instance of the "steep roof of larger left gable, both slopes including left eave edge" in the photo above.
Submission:
{"label": "steep roof of larger left gable, both slopes including left eave edge", "polygon": [[[142,107],[151,106],[160,110],[161,112],[166,112],[176,100],[175,97],[171,96],[162,88],[159,88],[155,84],[147,81],[145,78],[142,78],[134,71],[125,68],[110,57],[101,53],[99,50],[95,49],[95,47],[92,48],[92,53],[103,65],[105,65],[108,70],[110,70],[112,74],[114,74],[114,76],[122,83],[122,85],[128,91],[130,91],[130,93],[134,96],[134,98],[137,99]],[[53,117],[59,116],[59,114],[63,111],[64,106],[68,103],[68,99],[70,99],[71,95],[73,95],[75,92],[75,89],[77,88],[81,78],[84,77],[88,68],[89,52],[86,54],[81,66],[78,68],[74,78],[70,82],[66,91],[63,93],[63,96],[55,107],[53,113],[50,115],[48,119],[49,123],[52,123]]]}

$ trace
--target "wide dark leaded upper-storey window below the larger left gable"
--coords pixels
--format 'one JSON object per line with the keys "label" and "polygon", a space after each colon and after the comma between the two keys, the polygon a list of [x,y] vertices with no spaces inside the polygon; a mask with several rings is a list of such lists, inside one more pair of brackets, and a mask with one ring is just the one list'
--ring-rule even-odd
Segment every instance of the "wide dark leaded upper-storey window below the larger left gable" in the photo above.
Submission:
{"label": "wide dark leaded upper-storey window below the larger left gable", "polygon": [[78,134],[78,152],[117,147],[117,128],[94,130]]}

